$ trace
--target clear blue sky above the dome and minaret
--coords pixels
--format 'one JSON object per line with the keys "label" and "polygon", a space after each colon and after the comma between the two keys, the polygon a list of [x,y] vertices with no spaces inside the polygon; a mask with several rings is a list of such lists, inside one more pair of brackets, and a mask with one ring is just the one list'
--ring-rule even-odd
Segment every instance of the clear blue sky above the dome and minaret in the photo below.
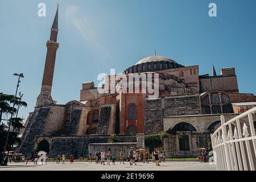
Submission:
{"label": "clear blue sky above the dome and minaret", "polygon": [[[46,17],[38,4],[46,3]],[[144,57],[170,57],[179,64],[199,65],[200,74],[236,67],[241,93],[256,93],[256,1],[217,0],[84,0],[58,1],[60,48],[52,97],[59,104],[79,100],[82,82],[99,73],[117,73]],[[217,4],[210,18],[208,5]],[[57,1],[0,1],[0,92],[19,91],[33,111],[40,92],[46,41]]]}

